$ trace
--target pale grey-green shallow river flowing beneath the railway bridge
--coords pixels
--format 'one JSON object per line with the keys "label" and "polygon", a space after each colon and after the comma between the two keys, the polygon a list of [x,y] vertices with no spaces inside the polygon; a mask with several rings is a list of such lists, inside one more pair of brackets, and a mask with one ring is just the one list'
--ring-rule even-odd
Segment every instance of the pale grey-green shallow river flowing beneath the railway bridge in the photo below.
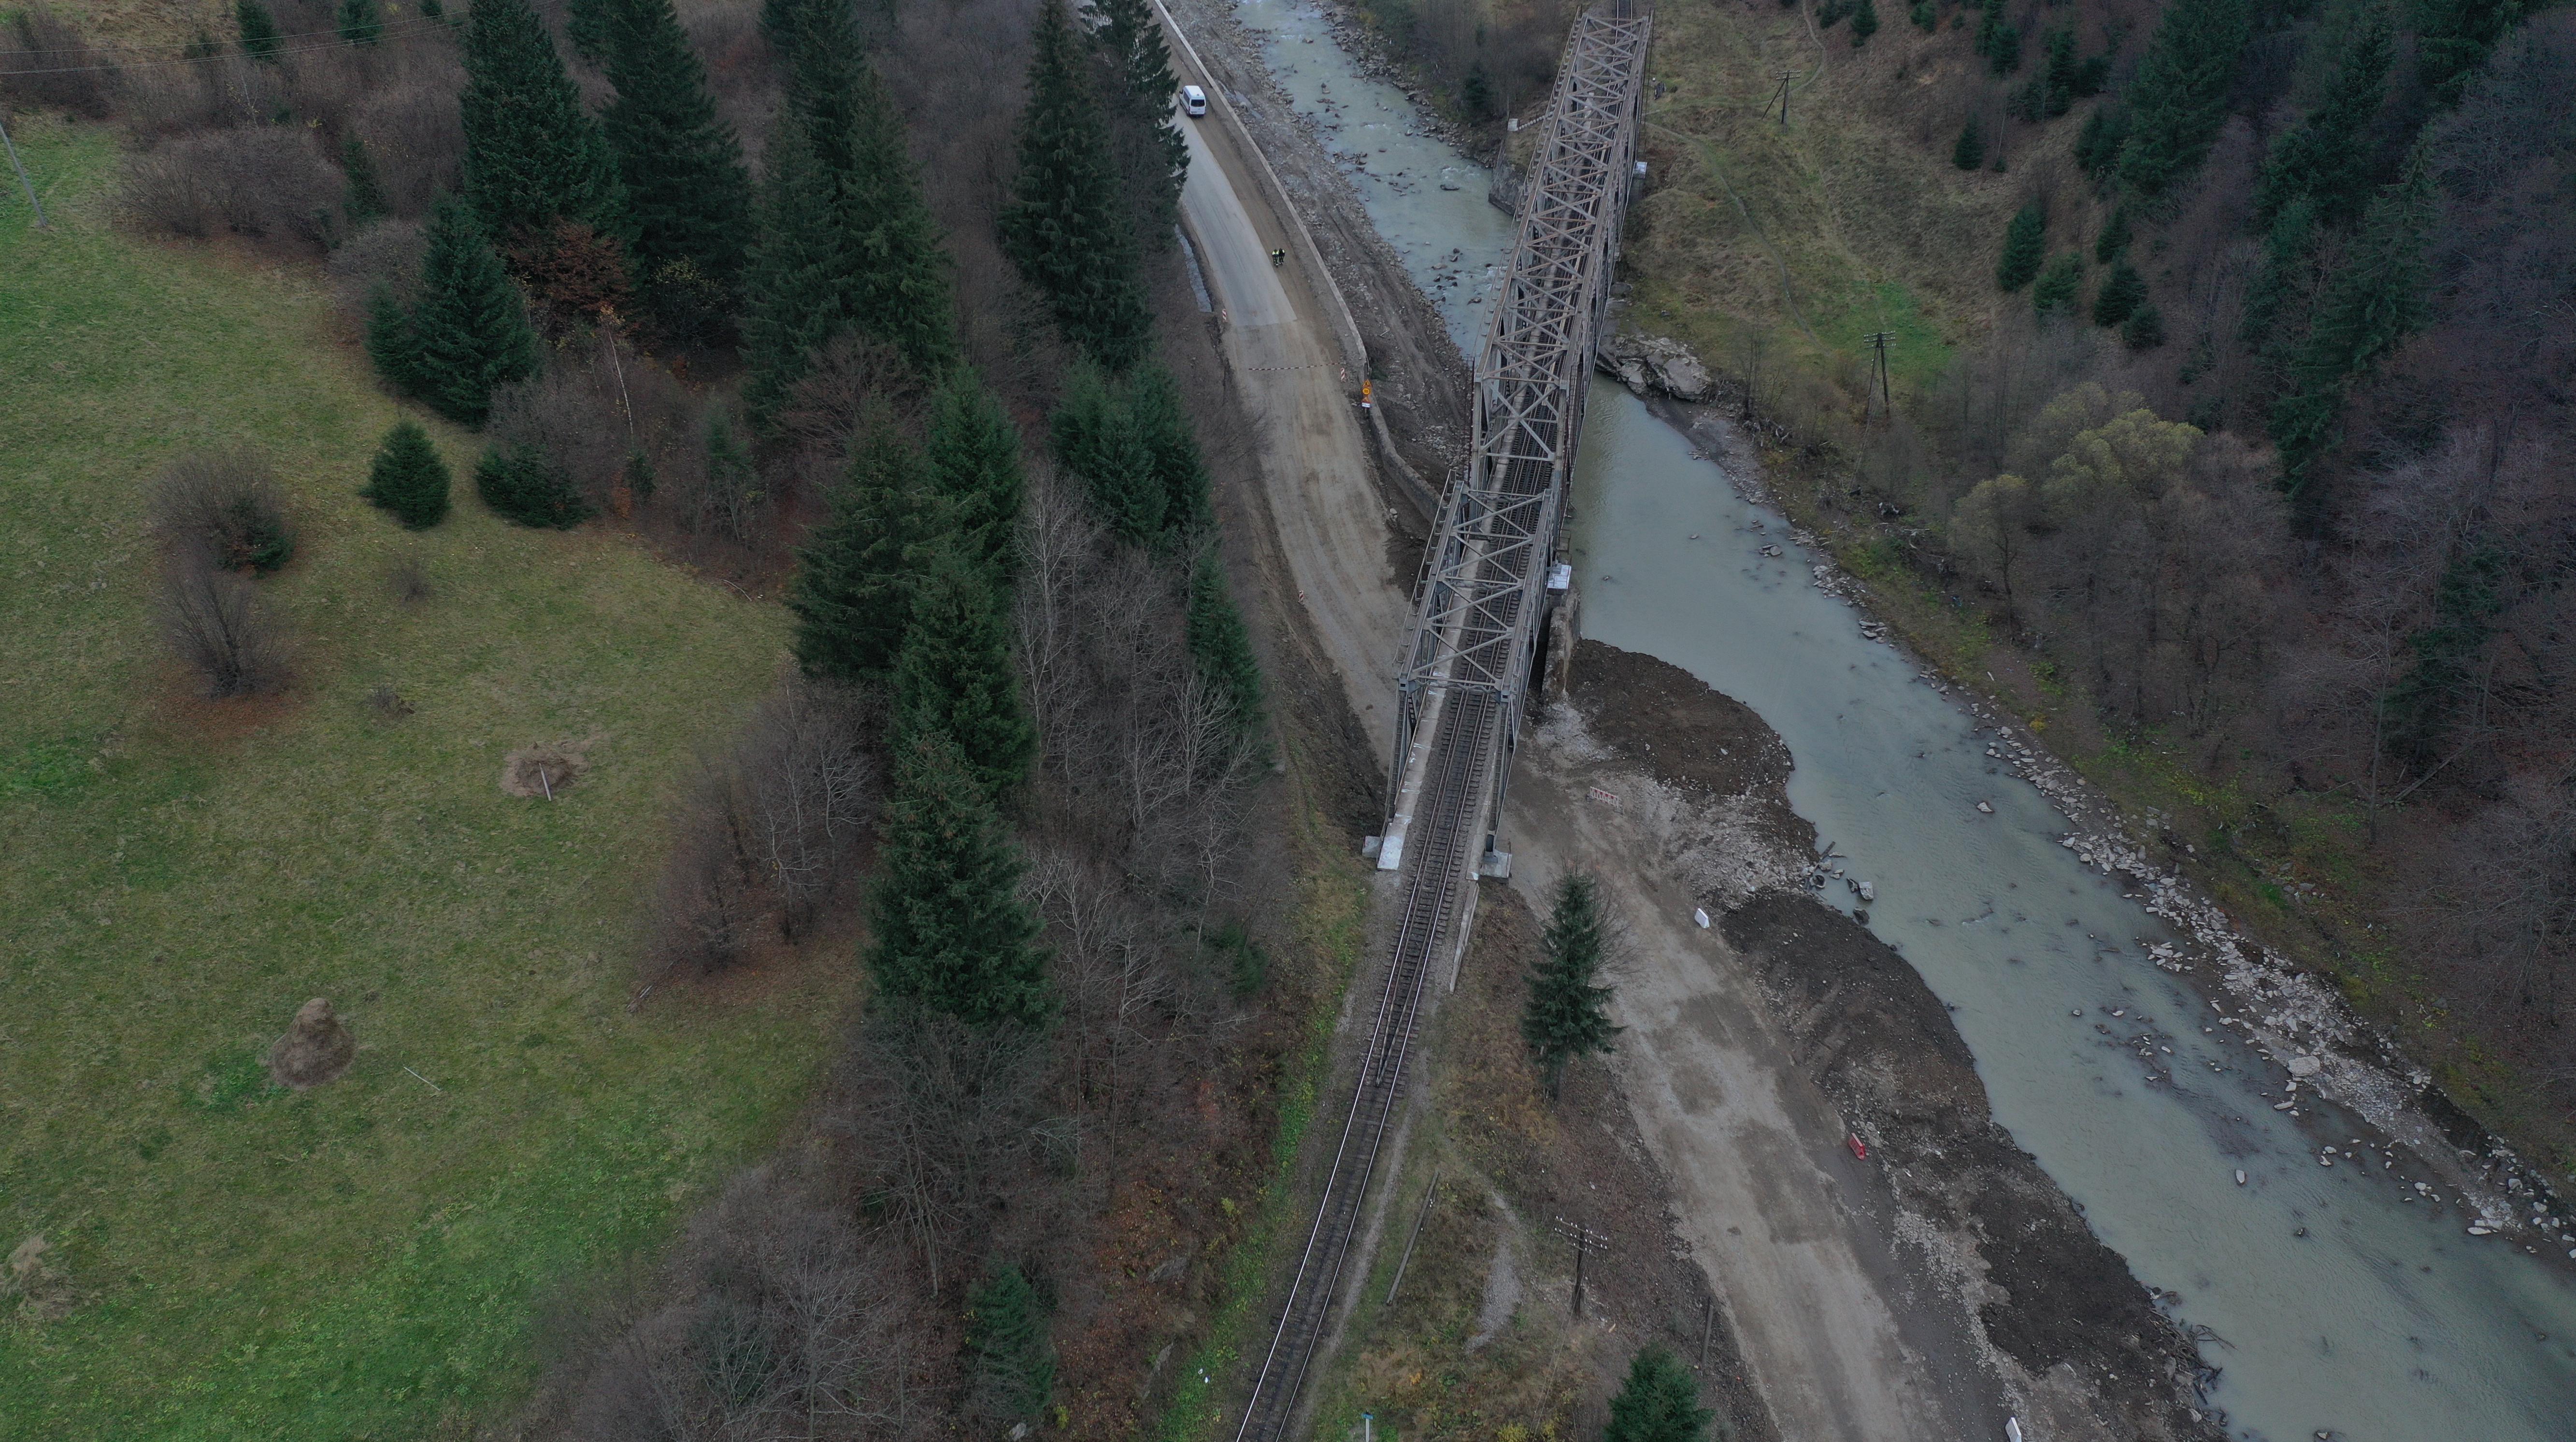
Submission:
{"label": "pale grey-green shallow river flowing beneath the railway bridge", "polygon": [[[1486,173],[1368,80],[1316,5],[1236,18],[1473,355],[1515,229]],[[2136,883],[2063,847],[2069,819],[1989,754],[1996,734],[1814,585],[1821,556],[1780,512],[1615,384],[1592,391],[1571,548],[1584,636],[1690,670],[1788,744],[1790,803],[1873,886],[1868,927],[1953,1007],[1996,1120],[2208,1329],[2231,1434],[2576,1439],[2576,1280],[2465,1236],[2476,1213],[2421,1197],[2421,1166],[2342,1107],[2303,1092],[2275,1110],[2280,1063],[2148,960],[2182,937]],[[1829,899],[1857,901],[1844,883]]]}

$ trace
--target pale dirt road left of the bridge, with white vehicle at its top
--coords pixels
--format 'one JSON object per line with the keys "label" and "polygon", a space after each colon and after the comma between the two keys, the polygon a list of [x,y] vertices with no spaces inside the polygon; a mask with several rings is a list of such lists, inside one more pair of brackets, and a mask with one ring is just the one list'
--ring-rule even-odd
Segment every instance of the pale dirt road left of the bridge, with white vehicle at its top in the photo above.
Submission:
{"label": "pale dirt road left of the bridge, with white vehicle at its top", "polygon": [[[1188,57],[1175,54],[1182,80]],[[1182,224],[1200,252],[1224,322],[1226,360],[1252,412],[1270,518],[1291,582],[1327,659],[1342,675],[1352,716],[1376,754],[1394,742],[1394,667],[1412,577],[1388,564],[1388,507],[1378,492],[1345,394],[1340,345],[1316,278],[1273,268],[1288,250],[1280,219],[1260,203],[1249,157],[1216,116],[1188,121],[1190,180]]]}

